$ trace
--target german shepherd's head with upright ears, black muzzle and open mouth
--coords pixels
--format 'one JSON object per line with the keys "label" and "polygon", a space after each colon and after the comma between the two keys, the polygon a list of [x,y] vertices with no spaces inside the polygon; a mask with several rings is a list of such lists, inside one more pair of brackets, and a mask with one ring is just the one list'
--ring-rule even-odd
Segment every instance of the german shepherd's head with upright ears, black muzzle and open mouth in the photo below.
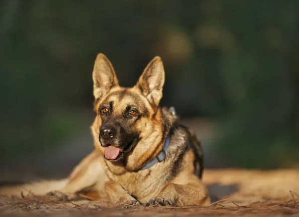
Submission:
{"label": "german shepherd's head with upright ears, black muzzle and open mouth", "polygon": [[[158,109],[164,84],[161,59],[155,57],[151,60],[133,88],[122,88],[110,61],[99,54],[93,82],[97,116],[92,131],[95,145],[103,152],[104,158],[109,161],[125,160],[127,163],[131,158],[136,164],[143,153],[148,151],[152,154],[154,148],[149,150],[149,142],[144,146],[138,144],[149,136],[152,146],[163,139]],[[134,155],[134,150],[138,154]]]}

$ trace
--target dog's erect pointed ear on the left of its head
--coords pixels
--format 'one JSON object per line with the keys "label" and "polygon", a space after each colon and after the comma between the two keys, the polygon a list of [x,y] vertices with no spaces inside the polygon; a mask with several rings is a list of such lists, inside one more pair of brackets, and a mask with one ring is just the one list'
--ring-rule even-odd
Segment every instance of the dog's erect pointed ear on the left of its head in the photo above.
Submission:
{"label": "dog's erect pointed ear on the left of its head", "polygon": [[113,66],[102,53],[97,56],[92,79],[94,83],[93,93],[96,100],[106,95],[111,88],[118,86]]}

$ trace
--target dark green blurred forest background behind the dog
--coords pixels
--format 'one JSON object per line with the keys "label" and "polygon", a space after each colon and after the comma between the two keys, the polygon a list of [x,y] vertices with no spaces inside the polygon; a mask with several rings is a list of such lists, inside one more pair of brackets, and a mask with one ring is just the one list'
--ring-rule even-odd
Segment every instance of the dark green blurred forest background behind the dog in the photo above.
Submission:
{"label": "dark green blurred forest background behind the dog", "polygon": [[123,86],[161,56],[162,105],[203,137],[207,167],[298,167],[299,1],[1,0],[5,174],[92,150],[99,52]]}

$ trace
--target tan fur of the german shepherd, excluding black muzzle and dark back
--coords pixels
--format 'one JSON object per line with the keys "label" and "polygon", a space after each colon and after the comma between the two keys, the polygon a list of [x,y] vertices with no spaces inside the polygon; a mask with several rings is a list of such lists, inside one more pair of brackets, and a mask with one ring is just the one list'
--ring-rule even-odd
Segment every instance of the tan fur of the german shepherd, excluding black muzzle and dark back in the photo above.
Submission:
{"label": "tan fur of the german shepherd, excluding black muzzle and dark back", "polygon": [[[101,197],[107,197],[113,203],[134,206],[140,203],[169,206],[208,205],[207,190],[201,180],[194,175],[195,155],[192,149],[187,149],[182,153],[182,159],[177,159],[181,160],[178,173],[171,172],[175,170],[173,161],[176,159],[175,154],[179,152],[179,145],[182,146],[189,140],[192,143],[197,142],[196,138],[190,138],[190,133],[183,128],[178,127],[178,130],[171,136],[167,153],[172,153],[173,158],[170,154],[163,162],[149,169],[137,171],[162,150],[166,138],[164,134],[170,133],[170,129],[165,131],[161,123],[168,121],[168,124],[174,124],[176,120],[174,115],[168,115],[168,119],[165,120],[167,111],[163,111],[158,106],[164,84],[161,59],[155,57],[149,63],[135,87],[122,88],[118,85],[110,61],[103,54],[99,54],[95,62],[93,81],[97,115],[91,131],[95,150],[76,166],[67,181],[62,181],[57,188],[49,188],[48,191],[56,190],[74,199],[78,192],[92,188]],[[138,102],[128,97],[130,96],[128,94],[122,98],[118,97],[119,92],[138,95]],[[109,101],[113,101],[116,105],[113,110],[115,116],[122,115],[123,109],[128,104],[142,103],[148,109],[148,116],[142,116],[133,126],[134,130],[141,132],[139,135],[141,140],[128,154],[126,161],[113,162],[104,159],[104,148],[99,141],[100,127],[103,123],[98,108],[103,102]],[[31,187],[33,189],[33,186]],[[0,189],[0,194],[11,195],[20,189],[24,187],[13,191]],[[36,193],[46,192],[36,191]]]}

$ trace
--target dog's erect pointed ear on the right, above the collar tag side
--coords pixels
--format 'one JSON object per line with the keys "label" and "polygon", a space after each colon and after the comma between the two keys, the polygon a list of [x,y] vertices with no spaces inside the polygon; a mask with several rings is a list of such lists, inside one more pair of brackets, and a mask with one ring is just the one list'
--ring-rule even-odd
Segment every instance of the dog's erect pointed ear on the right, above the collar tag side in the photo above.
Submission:
{"label": "dog's erect pointed ear on the right, above the collar tag side", "polygon": [[152,105],[158,106],[162,98],[165,73],[161,58],[156,56],[146,67],[140,77],[137,87],[148,98]]}

